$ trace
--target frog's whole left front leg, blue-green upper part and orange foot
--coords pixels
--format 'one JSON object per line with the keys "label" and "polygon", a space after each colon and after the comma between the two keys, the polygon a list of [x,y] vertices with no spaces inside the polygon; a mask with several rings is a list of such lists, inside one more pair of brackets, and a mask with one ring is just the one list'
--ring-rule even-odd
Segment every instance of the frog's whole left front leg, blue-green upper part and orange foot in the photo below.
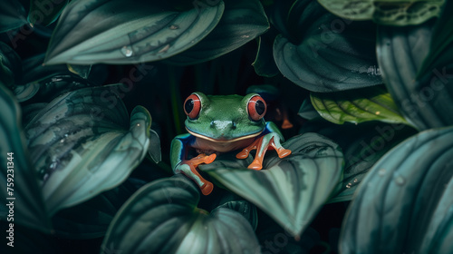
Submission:
{"label": "frog's whole left front leg, blue-green upper part and orange foot", "polygon": [[197,157],[186,160],[187,149],[191,142],[190,135],[180,135],[171,142],[171,168],[175,173],[183,173],[192,181],[195,181],[203,195],[209,195],[214,189],[214,185],[204,179],[198,172],[199,164],[208,164],[216,159],[216,154],[198,154]]}

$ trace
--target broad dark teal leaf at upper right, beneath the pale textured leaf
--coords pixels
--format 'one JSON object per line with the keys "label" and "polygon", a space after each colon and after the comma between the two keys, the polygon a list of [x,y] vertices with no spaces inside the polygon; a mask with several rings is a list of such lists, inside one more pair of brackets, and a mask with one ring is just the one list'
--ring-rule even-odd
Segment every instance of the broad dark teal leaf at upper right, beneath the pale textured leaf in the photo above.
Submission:
{"label": "broad dark teal leaf at upper right, beneath the pale textured leaf", "polygon": [[275,38],[274,58],[290,81],[319,93],[382,83],[374,24],[339,19],[311,0],[297,1],[288,20],[291,34]]}

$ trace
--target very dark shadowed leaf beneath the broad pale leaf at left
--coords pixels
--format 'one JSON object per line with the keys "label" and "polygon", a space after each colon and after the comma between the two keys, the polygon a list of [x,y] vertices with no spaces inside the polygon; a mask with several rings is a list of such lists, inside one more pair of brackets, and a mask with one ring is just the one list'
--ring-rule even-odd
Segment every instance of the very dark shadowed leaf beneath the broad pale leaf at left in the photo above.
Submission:
{"label": "very dark shadowed leaf beneath the broad pale leaf at left", "polygon": [[136,190],[135,184],[128,180],[91,200],[58,211],[52,219],[55,235],[63,239],[103,237],[121,205]]}

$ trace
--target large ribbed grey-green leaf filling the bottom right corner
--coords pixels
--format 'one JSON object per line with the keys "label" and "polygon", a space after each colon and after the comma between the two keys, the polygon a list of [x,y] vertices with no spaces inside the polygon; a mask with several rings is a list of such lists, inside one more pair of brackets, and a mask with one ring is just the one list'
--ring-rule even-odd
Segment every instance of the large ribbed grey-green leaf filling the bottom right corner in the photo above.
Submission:
{"label": "large ribbed grey-green leaf filling the bottom right corner", "polygon": [[378,161],[343,221],[342,253],[451,253],[453,128],[420,132]]}

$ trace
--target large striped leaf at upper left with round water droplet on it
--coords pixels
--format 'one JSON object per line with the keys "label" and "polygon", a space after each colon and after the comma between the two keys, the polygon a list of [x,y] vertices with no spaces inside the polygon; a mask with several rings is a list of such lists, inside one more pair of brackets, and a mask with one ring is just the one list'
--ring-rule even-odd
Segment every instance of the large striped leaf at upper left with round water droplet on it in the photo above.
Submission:
{"label": "large striped leaf at upper left with round water droplet on it", "polygon": [[136,64],[168,58],[198,44],[224,10],[222,1],[181,12],[166,3],[72,1],[53,32],[45,63]]}

